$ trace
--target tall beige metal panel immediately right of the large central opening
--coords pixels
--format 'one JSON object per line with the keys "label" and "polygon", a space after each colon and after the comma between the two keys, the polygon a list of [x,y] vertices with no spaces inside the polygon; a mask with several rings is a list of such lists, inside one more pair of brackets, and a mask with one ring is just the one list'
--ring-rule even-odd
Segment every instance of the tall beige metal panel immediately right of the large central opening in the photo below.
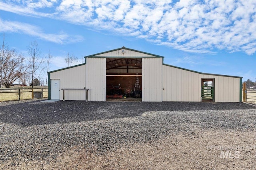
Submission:
{"label": "tall beige metal panel immediately right of the large central opening", "polygon": [[142,58],[142,102],[162,102],[162,58]]}

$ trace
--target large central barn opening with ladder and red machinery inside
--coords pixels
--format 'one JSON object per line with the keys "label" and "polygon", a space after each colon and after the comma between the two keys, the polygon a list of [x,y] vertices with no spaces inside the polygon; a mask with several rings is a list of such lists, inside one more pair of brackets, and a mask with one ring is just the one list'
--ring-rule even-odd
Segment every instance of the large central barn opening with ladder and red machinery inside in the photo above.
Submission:
{"label": "large central barn opening with ladder and red machinery inside", "polygon": [[106,101],[142,101],[142,58],[106,59]]}

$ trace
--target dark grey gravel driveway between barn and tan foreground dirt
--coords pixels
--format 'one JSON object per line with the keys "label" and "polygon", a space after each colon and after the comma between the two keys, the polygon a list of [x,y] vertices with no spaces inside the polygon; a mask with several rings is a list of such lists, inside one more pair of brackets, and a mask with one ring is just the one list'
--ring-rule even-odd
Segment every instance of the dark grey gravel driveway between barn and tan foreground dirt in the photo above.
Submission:
{"label": "dark grey gravel driveway between barn and tan foreground dirt", "polygon": [[256,129],[256,107],[244,103],[40,101],[0,103],[0,169],[44,169],[74,148],[100,156],[197,129]]}

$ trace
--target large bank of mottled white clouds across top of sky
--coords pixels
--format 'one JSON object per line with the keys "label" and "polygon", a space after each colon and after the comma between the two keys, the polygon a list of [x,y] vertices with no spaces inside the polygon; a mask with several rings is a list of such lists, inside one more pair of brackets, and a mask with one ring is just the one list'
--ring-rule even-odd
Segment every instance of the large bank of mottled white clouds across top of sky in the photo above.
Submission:
{"label": "large bank of mottled white clouds across top of sky", "polygon": [[[89,29],[136,36],[188,52],[256,50],[256,1],[89,1],[0,2],[1,10],[50,17]],[[52,8],[54,12],[42,12]],[[41,12],[38,12],[41,9]]]}

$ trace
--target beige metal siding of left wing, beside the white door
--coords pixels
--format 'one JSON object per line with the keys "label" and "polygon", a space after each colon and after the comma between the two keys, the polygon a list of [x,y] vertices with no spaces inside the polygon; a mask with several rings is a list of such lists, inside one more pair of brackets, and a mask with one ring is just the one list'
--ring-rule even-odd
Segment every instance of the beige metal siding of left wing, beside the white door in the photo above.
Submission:
{"label": "beige metal siding of left wing, beside the white door", "polygon": [[[86,65],[76,66],[50,73],[50,79],[60,79],[60,100],[63,99],[62,88],[84,88]],[[85,100],[85,91],[65,91],[65,100]]]}

